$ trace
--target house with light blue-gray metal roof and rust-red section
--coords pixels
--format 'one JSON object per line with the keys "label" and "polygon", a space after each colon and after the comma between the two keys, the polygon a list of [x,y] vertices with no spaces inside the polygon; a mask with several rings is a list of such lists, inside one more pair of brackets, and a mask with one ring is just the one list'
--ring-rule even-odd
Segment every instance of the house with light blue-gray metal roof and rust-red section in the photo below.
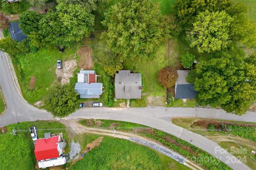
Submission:
{"label": "house with light blue-gray metal roof and rust-red section", "polygon": [[77,74],[75,90],[80,98],[100,98],[103,86],[102,83],[97,83],[97,77],[94,70],[81,70]]}

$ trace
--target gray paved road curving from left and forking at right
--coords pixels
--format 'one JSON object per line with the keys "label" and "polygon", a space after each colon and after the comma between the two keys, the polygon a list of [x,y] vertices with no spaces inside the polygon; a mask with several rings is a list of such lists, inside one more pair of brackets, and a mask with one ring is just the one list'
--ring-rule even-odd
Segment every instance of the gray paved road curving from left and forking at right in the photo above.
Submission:
{"label": "gray paved road curving from left and forking at right", "polygon": [[[15,75],[12,75],[10,72],[12,65],[10,65],[9,68],[7,63],[8,56],[5,56],[3,52],[1,52],[0,55],[0,84],[2,86],[3,95],[7,104],[5,114],[0,116],[0,127],[23,121],[52,120],[53,117],[51,114],[29,105],[21,98],[13,82],[12,77],[15,79]],[[229,153],[221,154],[219,151],[215,151],[216,149],[220,148],[217,143],[172,124],[171,118],[175,116],[196,116],[224,120],[256,122],[256,114],[254,112],[248,112],[243,116],[236,116],[233,114],[227,114],[221,109],[165,107],[84,108],[79,109],[76,113],[66,117],[66,119],[101,118],[144,124],[175,135],[176,137],[188,142],[192,141],[191,143],[193,143],[193,145],[209,152],[211,155],[219,158],[222,160],[222,162],[226,163],[233,169],[250,169],[245,164],[239,162],[239,160],[237,160],[233,155]],[[229,162],[229,160],[233,160],[233,162]]]}

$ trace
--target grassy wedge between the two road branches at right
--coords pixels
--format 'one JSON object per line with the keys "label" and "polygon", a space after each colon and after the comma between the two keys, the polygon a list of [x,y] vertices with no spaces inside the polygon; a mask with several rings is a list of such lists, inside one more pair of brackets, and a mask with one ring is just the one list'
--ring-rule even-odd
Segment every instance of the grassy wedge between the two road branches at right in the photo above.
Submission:
{"label": "grassy wedge between the two road branches at right", "polygon": [[[196,123],[200,121],[200,123]],[[256,149],[256,127],[253,126],[239,126],[234,124],[223,124],[219,120],[220,124],[210,123],[212,120],[202,118],[173,118],[172,122],[182,128],[189,129],[192,132],[201,134],[217,143],[231,154],[248,165],[250,168],[255,169],[256,157],[251,154],[251,150]],[[206,123],[207,122],[207,123]],[[252,123],[247,122],[235,122],[225,121],[230,123],[237,123],[241,125],[251,125]],[[254,123],[255,125],[255,123]],[[241,150],[245,148],[247,152],[232,152],[233,150]],[[250,155],[250,156],[249,156]],[[244,158],[244,159],[242,159]]]}

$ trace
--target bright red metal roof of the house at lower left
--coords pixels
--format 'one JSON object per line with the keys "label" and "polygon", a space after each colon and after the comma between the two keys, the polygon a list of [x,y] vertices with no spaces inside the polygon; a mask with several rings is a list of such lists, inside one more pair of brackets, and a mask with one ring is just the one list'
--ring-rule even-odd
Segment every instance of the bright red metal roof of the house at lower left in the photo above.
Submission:
{"label": "bright red metal roof of the house at lower left", "polygon": [[48,139],[36,140],[35,155],[36,160],[51,159],[59,157],[58,152],[59,136]]}

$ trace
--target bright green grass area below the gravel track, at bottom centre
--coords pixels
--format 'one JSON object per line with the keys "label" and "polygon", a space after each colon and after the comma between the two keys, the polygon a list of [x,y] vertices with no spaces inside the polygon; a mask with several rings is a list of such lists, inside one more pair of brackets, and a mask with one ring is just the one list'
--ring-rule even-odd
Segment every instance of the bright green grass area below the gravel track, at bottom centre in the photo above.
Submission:
{"label": "bright green grass area below the gravel track, at bottom centre", "polygon": [[187,169],[145,146],[123,139],[104,137],[99,147],[87,152],[70,169]]}

